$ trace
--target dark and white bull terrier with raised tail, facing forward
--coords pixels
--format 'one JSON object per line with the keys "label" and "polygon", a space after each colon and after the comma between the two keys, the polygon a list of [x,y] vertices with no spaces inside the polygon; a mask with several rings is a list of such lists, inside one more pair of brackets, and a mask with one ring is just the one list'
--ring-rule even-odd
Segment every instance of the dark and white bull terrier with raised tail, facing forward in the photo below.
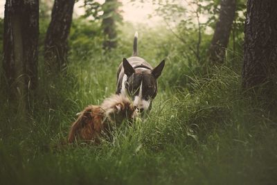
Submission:
{"label": "dark and white bull terrier with raised tail, facing forward", "polygon": [[143,112],[151,109],[152,100],[157,95],[157,78],[165,61],[153,69],[143,58],[138,57],[138,33],[134,35],[133,55],[123,58],[117,71],[116,94],[130,96],[137,111]]}

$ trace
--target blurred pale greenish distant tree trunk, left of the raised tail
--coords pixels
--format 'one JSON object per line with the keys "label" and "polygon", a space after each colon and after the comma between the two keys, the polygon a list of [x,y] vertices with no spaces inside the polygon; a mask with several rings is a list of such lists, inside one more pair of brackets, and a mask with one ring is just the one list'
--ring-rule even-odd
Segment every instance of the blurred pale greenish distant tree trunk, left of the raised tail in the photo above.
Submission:
{"label": "blurred pale greenish distant tree trunk, left of the raised tail", "polygon": [[106,0],[103,5],[102,29],[105,40],[103,42],[104,49],[116,48],[116,10],[118,8],[117,0]]}

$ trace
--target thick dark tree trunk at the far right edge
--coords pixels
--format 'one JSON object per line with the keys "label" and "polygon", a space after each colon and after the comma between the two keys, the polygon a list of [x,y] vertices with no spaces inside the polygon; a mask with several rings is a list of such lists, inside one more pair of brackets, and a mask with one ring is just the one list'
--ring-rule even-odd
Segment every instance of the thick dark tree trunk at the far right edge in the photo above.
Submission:
{"label": "thick dark tree trunk at the far right edge", "polygon": [[251,88],[277,76],[277,1],[249,0],[244,27],[242,87]]}

